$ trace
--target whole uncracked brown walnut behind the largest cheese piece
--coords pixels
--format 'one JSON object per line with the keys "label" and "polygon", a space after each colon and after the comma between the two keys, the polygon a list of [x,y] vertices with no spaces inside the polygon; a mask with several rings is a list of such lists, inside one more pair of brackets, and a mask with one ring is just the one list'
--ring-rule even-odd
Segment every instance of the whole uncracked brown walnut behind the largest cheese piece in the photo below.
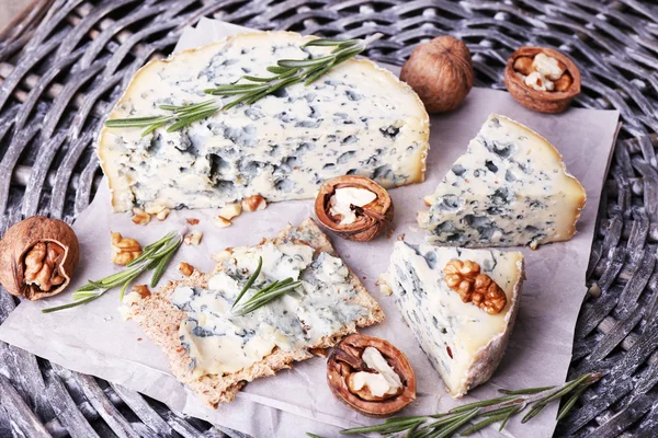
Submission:
{"label": "whole uncracked brown walnut behind the largest cheese piece", "polygon": [[428,113],[452,111],[473,88],[473,60],[468,47],[449,35],[423,43],[405,62],[400,80],[411,85]]}

